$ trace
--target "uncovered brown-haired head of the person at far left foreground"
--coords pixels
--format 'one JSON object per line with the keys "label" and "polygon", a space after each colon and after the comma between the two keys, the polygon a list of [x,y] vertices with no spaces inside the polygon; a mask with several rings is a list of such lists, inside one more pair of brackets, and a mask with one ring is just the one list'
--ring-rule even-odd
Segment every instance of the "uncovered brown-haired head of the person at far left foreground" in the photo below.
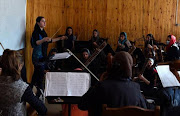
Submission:
{"label": "uncovered brown-haired head of the person at far left foreground", "polygon": [[1,59],[2,76],[11,76],[14,81],[21,76],[21,69],[24,65],[22,55],[14,50],[6,49]]}

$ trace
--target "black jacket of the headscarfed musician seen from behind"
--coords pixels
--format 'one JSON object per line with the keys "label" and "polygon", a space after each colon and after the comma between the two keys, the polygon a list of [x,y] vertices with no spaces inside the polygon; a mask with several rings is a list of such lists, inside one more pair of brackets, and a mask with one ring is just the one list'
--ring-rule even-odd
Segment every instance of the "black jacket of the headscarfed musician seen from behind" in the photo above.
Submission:
{"label": "black jacket of the headscarfed musician seen from behind", "polygon": [[99,115],[102,104],[107,104],[108,107],[133,105],[147,108],[139,85],[130,79],[105,80],[91,87],[83,95],[79,108],[81,110],[93,108],[96,110],[94,115]]}

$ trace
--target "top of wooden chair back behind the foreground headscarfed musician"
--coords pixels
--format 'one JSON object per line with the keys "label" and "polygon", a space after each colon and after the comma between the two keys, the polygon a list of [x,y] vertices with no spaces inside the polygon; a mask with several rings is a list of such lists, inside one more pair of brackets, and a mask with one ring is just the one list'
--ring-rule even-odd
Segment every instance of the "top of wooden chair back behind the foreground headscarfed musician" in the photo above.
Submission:
{"label": "top of wooden chair back behind the foreground headscarfed musician", "polygon": [[149,110],[138,106],[108,108],[107,105],[103,105],[102,116],[160,116],[160,106]]}

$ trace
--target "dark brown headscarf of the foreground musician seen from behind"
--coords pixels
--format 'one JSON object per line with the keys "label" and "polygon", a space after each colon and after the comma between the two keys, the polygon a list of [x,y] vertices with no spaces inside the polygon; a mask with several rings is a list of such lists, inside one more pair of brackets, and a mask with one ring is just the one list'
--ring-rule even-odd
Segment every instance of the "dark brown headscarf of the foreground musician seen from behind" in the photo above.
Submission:
{"label": "dark brown headscarf of the foreground musician seen from behind", "polygon": [[128,52],[117,52],[113,59],[113,66],[110,72],[111,79],[122,79],[132,77],[133,59]]}

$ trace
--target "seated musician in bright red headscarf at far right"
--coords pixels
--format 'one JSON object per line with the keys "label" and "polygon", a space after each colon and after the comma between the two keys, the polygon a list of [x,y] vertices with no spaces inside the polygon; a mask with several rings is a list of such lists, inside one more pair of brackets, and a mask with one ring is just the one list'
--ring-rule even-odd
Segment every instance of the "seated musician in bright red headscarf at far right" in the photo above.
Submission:
{"label": "seated musician in bright red headscarf at far right", "polygon": [[165,61],[173,61],[180,58],[180,50],[176,44],[176,37],[174,35],[169,35],[167,37],[166,52]]}

